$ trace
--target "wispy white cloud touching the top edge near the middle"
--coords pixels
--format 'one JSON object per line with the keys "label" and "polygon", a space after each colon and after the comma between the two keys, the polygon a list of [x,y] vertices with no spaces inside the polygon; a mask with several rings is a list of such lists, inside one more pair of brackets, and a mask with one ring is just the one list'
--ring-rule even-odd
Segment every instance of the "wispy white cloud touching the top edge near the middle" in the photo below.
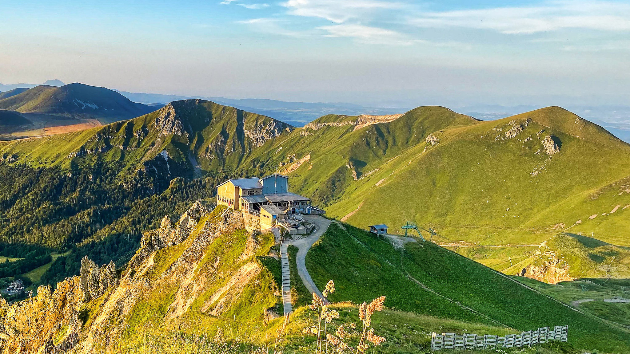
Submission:
{"label": "wispy white cloud touching the top edge near the middle", "polygon": [[335,23],[364,18],[384,9],[399,9],[403,4],[382,0],[289,0],[281,3],[295,16],[324,18]]}

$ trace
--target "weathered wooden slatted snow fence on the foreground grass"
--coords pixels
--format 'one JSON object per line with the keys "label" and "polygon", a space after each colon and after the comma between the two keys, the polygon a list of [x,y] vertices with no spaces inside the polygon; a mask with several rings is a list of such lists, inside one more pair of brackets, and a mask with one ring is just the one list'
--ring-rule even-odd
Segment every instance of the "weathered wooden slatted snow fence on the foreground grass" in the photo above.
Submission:
{"label": "weathered wooden slatted snow fence on the foreground grass", "polygon": [[521,334],[508,334],[507,336],[492,336],[485,334],[455,334],[433,332],[431,338],[431,351],[442,349],[455,350],[475,350],[475,349],[498,349],[498,348],[520,348],[522,346],[532,346],[538,343],[550,341],[566,341],[569,326],[555,326],[553,330],[549,327],[539,328],[536,331],[527,331]]}

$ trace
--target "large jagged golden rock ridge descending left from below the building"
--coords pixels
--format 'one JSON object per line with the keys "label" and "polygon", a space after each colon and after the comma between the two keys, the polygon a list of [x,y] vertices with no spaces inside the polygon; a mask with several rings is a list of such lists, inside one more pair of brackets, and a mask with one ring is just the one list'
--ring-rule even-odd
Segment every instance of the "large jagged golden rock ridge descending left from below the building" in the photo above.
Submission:
{"label": "large jagged golden rock ridge descending left from below the building", "polygon": [[[201,294],[215,300],[208,302],[203,297],[203,312],[215,316],[224,313],[238,303],[261,272],[260,265],[252,260],[260,248],[260,232],[249,233],[238,258],[244,264],[229,275],[223,273],[218,257],[203,260],[211,256],[212,243],[224,235],[238,237],[234,232],[243,227],[241,212],[221,208],[210,214],[196,202],[175,224],[167,216],[157,230],[147,232],[120,277],[114,263],[99,267],[84,258],[81,275],[58,283],[54,292],[50,287],[39,287],[37,296],[11,305],[0,298],[0,353],[91,354],[101,352],[101,348],[110,350],[120,343],[129,314],[138,302],[163,291],[175,291],[167,320],[185,314]],[[156,251],[184,242],[185,248],[167,253],[167,263],[164,258],[157,261]],[[217,282],[222,287],[215,290]]]}

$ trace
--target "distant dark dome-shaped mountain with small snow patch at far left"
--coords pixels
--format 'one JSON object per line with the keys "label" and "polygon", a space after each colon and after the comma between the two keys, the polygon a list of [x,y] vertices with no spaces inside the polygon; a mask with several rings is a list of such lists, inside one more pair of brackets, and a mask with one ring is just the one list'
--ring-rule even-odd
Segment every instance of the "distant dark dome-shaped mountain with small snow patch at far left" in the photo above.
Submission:
{"label": "distant dark dome-shaped mountain with small snow patch at far left", "polygon": [[[19,90],[19,89],[18,89]],[[147,114],[151,106],[127,100],[106,88],[74,83],[61,87],[37,86],[21,93],[0,96],[0,109],[71,118],[97,118],[103,123]]]}

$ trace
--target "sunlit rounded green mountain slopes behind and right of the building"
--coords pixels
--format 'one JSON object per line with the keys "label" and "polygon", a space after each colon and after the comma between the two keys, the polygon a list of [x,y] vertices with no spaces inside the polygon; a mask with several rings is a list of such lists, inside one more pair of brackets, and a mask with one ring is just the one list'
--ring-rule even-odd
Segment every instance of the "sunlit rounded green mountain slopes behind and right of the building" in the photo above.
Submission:
{"label": "sunlit rounded green mountain slopes behind and right of the building", "polygon": [[[479,122],[430,106],[358,130],[343,125],[352,117],[314,123],[335,119],[268,142],[241,168],[308,157],[287,172],[292,188],[360,227],[401,232],[413,221],[437,241],[480,244],[541,243],[569,228],[629,241],[630,145],[563,108]],[[508,137],[516,125],[523,131]],[[547,154],[547,136],[559,152]]]}

